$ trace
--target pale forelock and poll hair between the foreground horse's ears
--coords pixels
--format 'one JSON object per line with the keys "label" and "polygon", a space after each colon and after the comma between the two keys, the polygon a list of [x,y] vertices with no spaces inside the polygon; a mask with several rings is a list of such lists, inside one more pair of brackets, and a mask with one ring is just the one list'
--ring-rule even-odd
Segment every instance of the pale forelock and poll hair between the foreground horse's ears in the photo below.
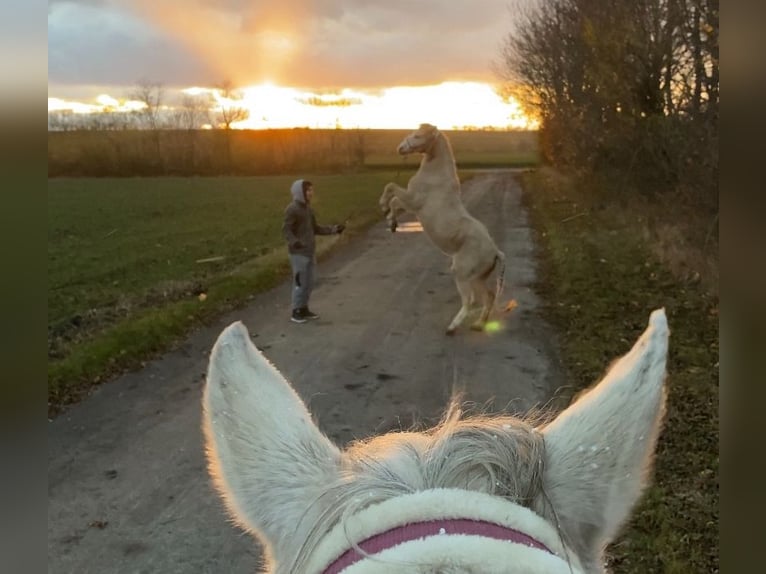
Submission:
{"label": "pale forelock and poll hair between the foreground horse's ears", "polygon": [[537,506],[545,445],[528,422],[510,416],[461,418],[456,404],[426,432],[398,432],[357,441],[343,454],[340,478],[314,505],[303,544],[289,571],[299,571],[337,524],[365,508],[414,492],[453,488]]}

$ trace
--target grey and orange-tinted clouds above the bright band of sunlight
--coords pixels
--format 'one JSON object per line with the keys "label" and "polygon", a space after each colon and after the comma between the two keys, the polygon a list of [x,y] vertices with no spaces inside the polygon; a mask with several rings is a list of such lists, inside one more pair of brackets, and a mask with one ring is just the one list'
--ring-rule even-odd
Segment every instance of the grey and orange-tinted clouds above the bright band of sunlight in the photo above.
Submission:
{"label": "grey and orange-tinted clouds above the bright band of sunlight", "polygon": [[492,81],[490,63],[512,24],[507,1],[52,0],[49,81]]}

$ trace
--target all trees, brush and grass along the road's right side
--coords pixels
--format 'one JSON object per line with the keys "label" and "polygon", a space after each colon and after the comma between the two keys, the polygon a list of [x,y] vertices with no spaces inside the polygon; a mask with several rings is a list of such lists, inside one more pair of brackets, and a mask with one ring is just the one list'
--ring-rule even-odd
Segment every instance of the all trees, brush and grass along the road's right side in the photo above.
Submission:
{"label": "all trees, brush and grass along the road's right side", "polygon": [[717,573],[719,3],[518,8],[503,72],[557,170],[525,187],[573,392],[600,374],[595,349],[624,353],[651,309],[671,329],[654,482],[609,565]]}

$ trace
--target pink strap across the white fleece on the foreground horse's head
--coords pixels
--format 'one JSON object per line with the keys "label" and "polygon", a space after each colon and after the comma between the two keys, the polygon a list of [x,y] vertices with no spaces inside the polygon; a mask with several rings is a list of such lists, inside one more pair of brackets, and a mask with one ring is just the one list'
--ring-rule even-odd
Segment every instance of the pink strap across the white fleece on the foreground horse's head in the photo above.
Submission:
{"label": "pink strap across the white fleece on the foreground horse's head", "polygon": [[[491,522],[479,520],[468,520],[456,518],[451,520],[429,520],[427,522],[415,522],[397,526],[391,530],[386,530],[363,540],[358,544],[359,548],[368,555],[374,555],[383,550],[387,550],[402,542],[428,538],[430,536],[446,536],[454,534],[465,534],[473,536],[483,536],[484,538],[494,538],[496,540],[505,540],[516,544],[524,544],[532,548],[539,548],[553,554],[550,549],[542,542],[527,536],[523,532],[499,526]],[[355,548],[349,548],[343,554],[338,556],[332,564],[324,569],[323,574],[339,574],[345,568],[365,558],[363,554],[357,552]]]}

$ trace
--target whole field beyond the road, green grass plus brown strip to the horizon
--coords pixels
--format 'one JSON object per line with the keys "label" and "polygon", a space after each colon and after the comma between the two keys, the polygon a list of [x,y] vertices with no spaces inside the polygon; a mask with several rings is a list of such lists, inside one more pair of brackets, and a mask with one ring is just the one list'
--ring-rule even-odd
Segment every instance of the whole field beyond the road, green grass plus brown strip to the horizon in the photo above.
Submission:
{"label": "whole field beyond the road, green grass plus brown strip to the horizon", "polygon": [[[296,177],[321,221],[348,220],[340,242],[382,221],[383,186],[418,166],[396,153],[410,131],[49,133],[49,411],[283,280]],[[461,176],[538,159],[536,132],[446,133]]]}

